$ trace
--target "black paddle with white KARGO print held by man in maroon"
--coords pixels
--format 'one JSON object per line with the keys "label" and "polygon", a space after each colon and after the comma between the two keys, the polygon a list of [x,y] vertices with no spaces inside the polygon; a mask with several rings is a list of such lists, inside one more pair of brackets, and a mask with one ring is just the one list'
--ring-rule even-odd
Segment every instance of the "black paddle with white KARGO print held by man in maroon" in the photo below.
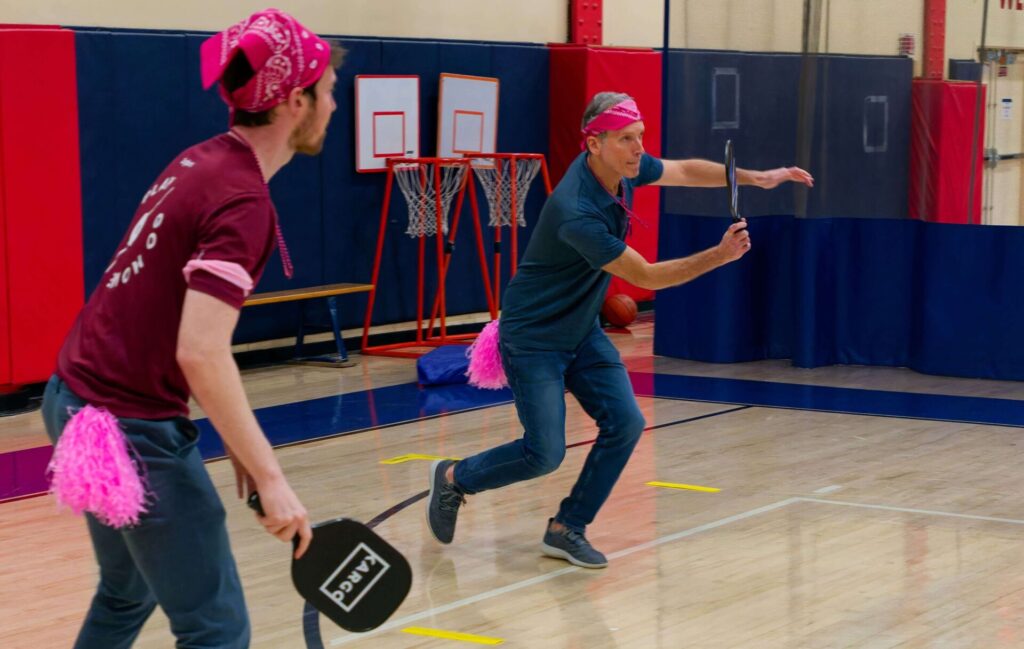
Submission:
{"label": "black paddle with white KARGO print held by man in maroon", "polygon": [[[248,505],[264,515],[258,493],[249,495]],[[292,559],[295,590],[346,631],[380,626],[413,586],[409,562],[389,543],[351,519],[336,518],[312,528],[306,553]]]}

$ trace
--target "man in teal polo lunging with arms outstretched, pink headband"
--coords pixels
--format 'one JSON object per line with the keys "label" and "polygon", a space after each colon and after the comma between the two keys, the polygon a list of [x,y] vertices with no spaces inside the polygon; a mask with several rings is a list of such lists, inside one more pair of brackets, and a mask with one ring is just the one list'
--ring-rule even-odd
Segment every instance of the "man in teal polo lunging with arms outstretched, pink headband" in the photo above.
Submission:
{"label": "man in teal polo lunging with arms outstretched, pink headband", "polygon": [[[611,492],[645,422],[618,351],[597,315],[611,275],[643,289],[685,284],[739,259],[751,249],[746,223],[733,223],[709,250],[681,259],[647,262],[626,245],[633,190],[645,184],[722,186],[722,165],[703,160],[663,161],[643,149],[643,118],[636,102],[616,92],[594,96],[583,119],[584,153],[551,193],[518,273],[502,303],[500,349],[520,439],[465,460],[431,467],[427,518],[431,532],[452,543],[465,494],[554,471],[565,457],[565,390],[598,424],[597,440],[568,497],[542,543],[543,552],[585,568],[608,562],[584,531]],[[770,189],[813,179],[797,167],[737,170],[740,184]]]}

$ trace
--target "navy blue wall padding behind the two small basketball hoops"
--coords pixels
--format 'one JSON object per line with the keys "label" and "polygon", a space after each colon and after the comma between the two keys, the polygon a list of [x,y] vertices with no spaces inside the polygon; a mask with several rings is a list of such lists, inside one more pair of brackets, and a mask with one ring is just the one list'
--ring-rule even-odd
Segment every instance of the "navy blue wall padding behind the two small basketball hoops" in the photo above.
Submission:
{"label": "navy blue wall padding behind the two small basketball hoops", "polygon": [[[199,46],[205,34],[80,30],[77,34],[86,290],[99,282],[139,199],[180,150],[222,132],[227,111],[216,91],[203,91]],[[545,47],[493,43],[341,38],[349,50],[339,72],[324,153],[297,157],[270,182],[282,230],[295,261],[285,279],[279,256],[270,259],[257,291],[336,282],[369,282],[374,262],[385,174],[359,174],[354,163],[356,74],[421,76],[421,156],[435,154],[438,75],[441,72],[501,80],[498,148],[548,153],[548,52]],[[479,186],[477,186],[479,189]],[[374,322],[416,317],[415,240],[404,234],[404,201],[392,198]],[[544,200],[535,181],[527,201],[529,225],[520,229],[520,254]],[[479,192],[481,219],[486,204]],[[450,313],[486,309],[467,204],[447,282]],[[508,240],[508,230],[503,233]],[[490,251],[490,232],[484,232]],[[433,242],[428,242],[427,297],[436,284]],[[507,245],[506,245],[507,251]],[[508,280],[508,254],[503,284]],[[366,294],[341,298],[342,327],[358,327]],[[236,342],[294,335],[298,309],[307,322],[327,327],[321,301],[267,305],[243,311]]]}

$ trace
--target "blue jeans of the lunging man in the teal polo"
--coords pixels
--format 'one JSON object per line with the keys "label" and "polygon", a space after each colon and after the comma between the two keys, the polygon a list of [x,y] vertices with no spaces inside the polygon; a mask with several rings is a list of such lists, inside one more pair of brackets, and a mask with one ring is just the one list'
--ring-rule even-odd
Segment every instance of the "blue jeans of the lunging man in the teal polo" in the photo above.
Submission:
{"label": "blue jeans of the lunging man in the teal polo", "polygon": [[644,429],[618,350],[598,327],[571,352],[532,351],[501,343],[522,438],[466,458],[455,482],[466,493],[551,473],[565,458],[565,389],[598,426],[580,478],[555,520],[584,531],[594,521]]}

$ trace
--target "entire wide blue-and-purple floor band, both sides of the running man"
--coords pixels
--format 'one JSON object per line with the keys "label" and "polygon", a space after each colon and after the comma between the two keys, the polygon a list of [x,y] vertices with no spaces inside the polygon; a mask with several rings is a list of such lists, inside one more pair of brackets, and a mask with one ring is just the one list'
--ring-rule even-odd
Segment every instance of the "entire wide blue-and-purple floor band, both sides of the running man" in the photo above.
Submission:
{"label": "entire wide blue-and-purple floor band, both sides of the running man", "polygon": [[[638,396],[1024,428],[1022,400],[650,373],[630,378]],[[262,407],[256,418],[270,443],[281,446],[511,402],[508,389],[407,383]],[[223,444],[210,422],[197,425],[203,457],[222,457]],[[51,452],[40,446],[0,453],[0,501],[45,491],[43,471]]]}

